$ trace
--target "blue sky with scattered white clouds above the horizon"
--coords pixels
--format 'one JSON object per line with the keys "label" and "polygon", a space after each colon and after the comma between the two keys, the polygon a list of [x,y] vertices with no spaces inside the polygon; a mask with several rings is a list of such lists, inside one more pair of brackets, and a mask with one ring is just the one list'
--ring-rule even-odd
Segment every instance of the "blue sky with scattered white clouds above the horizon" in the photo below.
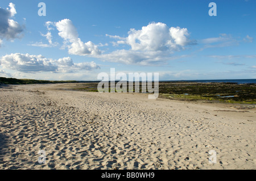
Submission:
{"label": "blue sky with scattered white clouds above the horizon", "polygon": [[1,0],[0,77],[255,79],[255,18],[255,0]]}

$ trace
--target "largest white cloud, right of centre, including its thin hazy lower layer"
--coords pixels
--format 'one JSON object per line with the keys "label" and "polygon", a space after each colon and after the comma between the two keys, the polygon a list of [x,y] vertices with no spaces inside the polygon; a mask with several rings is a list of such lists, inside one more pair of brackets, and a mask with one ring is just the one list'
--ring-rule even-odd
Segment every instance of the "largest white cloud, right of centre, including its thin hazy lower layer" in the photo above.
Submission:
{"label": "largest white cloud, right of centre, including its thin hazy lower layer", "polygon": [[185,49],[186,45],[195,44],[189,39],[187,28],[171,27],[164,23],[150,23],[141,30],[130,29],[127,37],[108,35],[117,41],[114,46],[126,44],[129,50],[115,50],[98,56],[102,60],[125,64],[152,65],[171,59],[171,54]]}

